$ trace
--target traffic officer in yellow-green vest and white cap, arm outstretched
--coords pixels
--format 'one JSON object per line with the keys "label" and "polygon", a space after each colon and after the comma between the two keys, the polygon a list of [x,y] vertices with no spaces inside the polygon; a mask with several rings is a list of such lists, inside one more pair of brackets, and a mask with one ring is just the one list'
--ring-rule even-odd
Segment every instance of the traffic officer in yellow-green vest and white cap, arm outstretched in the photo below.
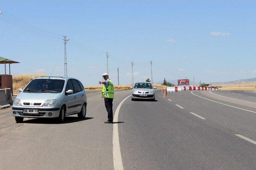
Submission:
{"label": "traffic officer in yellow-green vest and white cap, arm outstretched", "polygon": [[104,123],[113,123],[113,99],[114,99],[114,84],[112,80],[109,79],[107,73],[102,75],[104,82],[99,82],[99,84],[104,84],[102,88],[101,97],[104,98],[105,107],[108,112],[108,121]]}

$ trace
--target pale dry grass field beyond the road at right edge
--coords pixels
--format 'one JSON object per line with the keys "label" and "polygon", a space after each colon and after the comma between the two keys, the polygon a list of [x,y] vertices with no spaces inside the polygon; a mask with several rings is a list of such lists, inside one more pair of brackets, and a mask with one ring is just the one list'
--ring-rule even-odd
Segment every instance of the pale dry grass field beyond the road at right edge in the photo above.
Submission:
{"label": "pale dry grass field beyond the road at right edge", "polygon": [[213,86],[222,86],[220,90],[256,90],[256,82],[242,84],[214,84]]}

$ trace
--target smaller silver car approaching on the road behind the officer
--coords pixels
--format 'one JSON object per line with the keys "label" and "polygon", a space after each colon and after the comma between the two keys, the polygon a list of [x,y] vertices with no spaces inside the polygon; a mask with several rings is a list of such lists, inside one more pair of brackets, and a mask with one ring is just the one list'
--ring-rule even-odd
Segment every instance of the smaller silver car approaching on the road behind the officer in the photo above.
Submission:
{"label": "smaller silver car approaching on the road behind the officer", "polygon": [[149,99],[155,101],[156,91],[151,83],[135,83],[132,88],[132,101],[136,99]]}

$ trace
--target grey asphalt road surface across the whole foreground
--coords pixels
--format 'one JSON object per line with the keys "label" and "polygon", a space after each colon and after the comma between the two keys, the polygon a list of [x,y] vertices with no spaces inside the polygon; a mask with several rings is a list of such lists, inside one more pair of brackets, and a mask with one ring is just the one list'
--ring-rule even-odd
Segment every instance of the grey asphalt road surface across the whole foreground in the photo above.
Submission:
{"label": "grey asphalt road surface across the whole foreground", "polygon": [[[130,91],[115,92],[114,112]],[[86,119],[25,119],[0,111],[0,169],[114,169],[118,139],[124,169],[255,169],[256,93],[159,90],[155,102],[120,105],[118,123],[99,92]],[[118,138],[113,127],[118,125]],[[114,140],[114,141],[113,141]],[[116,167],[115,167],[116,168]]]}

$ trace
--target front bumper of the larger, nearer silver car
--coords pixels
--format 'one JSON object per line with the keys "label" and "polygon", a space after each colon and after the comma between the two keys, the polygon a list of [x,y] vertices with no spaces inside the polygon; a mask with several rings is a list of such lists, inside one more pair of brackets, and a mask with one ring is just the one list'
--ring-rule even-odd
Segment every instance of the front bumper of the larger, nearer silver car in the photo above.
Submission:
{"label": "front bumper of the larger, nearer silver car", "polygon": [[[23,109],[38,109],[38,113],[22,113]],[[52,114],[51,114],[52,113]],[[46,108],[46,107],[23,107],[23,106],[13,106],[12,107],[12,115],[14,117],[31,117],[31,118],[39,118],[39,117],[58,117],[60,114],[60,108]]]}

